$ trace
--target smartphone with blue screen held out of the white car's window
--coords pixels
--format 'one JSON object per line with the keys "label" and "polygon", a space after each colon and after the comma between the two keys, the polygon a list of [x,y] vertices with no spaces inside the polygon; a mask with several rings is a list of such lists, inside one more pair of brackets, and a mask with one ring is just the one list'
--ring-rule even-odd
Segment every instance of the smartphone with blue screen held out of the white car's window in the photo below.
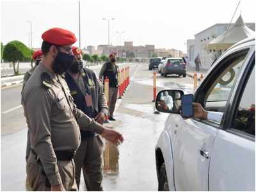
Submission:
{"label": "smartphone with blue screen held out of the white car's window", "polygon": [[194,116],[193,94],[182,95],[181,97],[181,116],[188,118]]}

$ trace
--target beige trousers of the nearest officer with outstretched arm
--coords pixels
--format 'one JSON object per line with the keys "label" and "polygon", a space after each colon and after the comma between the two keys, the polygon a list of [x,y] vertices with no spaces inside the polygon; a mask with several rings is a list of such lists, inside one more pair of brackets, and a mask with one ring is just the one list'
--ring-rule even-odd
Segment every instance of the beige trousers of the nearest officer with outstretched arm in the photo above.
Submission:
{"label": "beige trousers of the nearest officer with outstretched arm", "polygon": [[[78,191],[75,179],[75,163],[72,161],[58,161],[58,169],[63,187],[66,191]],[[30,154],[26,165],[29,183],[33,191],[51,191],[49,181],[43,171],[42,165],[36,163],[35,155]]]}

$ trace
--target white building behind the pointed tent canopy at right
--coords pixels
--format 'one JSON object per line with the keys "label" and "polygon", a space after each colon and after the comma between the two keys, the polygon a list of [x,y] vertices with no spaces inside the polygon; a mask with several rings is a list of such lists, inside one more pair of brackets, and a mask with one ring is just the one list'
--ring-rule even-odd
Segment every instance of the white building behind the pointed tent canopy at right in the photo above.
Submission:
{"label": "white building behind the pointed tent canopy at right", "polygon": [[[232,28],[231,24],[230,28]],[[195,40],[187,40],[187,52],[189,63],[194,65],[195,57],[199,54],[202,63],[202,68],[210,68],[211,63],[215,60],[217,52],[207,51],[206,46],[211,40],[224,33],[229,24],[215,24],[204,31],[195,35]],[[255,31],[255,23],[246,23],[246,26]]]}

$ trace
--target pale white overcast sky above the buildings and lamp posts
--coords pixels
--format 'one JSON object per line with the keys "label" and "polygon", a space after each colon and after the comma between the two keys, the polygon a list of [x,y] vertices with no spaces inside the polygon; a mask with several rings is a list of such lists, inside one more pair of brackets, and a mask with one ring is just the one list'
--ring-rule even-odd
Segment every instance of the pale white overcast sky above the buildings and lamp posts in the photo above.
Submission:
{"label": "pale white overcast sky above the buildings and lamp posts", "polygon": [[[241,14],[244,22],[255,22],[255,0],[241,0],[232,22]],[[239,1],[235,0],[80,0],[81,47],[132,41],[134,45],[153,44],[155,48],[186,52],[186,40],[216,23],[229,23]],[[78,0],[1,0],[1,42],[19,40],[40,47],[41,35],[49,28],[65,28],[77,36],[79,45]]]}

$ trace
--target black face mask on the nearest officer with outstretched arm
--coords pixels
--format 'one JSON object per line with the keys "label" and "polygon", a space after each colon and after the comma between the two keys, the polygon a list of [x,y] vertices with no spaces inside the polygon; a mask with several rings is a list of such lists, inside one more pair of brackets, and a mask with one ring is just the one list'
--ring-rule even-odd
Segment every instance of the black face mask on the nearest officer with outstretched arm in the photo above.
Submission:
{"label": "black face mask on the nearest officer with outstretched arm", "polygon": [[53,61],[52,69],[56,74],[63,74],[67,72],[68,68],[72,66],[74,56],[64,52],[58,52],[56,58]]}

